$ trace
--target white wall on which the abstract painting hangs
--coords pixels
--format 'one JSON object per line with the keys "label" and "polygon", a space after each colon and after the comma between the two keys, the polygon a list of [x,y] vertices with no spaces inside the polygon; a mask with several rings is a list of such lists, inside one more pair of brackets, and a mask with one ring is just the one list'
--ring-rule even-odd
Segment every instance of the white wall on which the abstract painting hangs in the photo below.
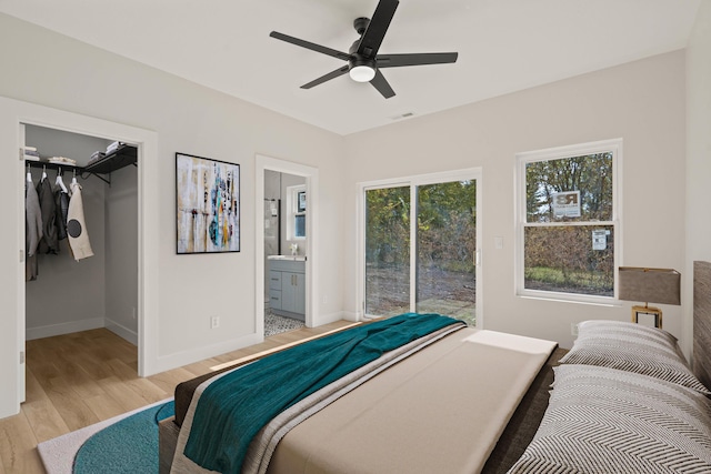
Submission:
{"label": "white wall on which the abstract painting hangs", "polygon": [[[20,40],[21,39],[21,40]],[[278,113],[198,87],[140,63],[108,53],[76,40],[0,14],[0,63],[14,71],[3,74],[0,95],[59,110],[153,130],[158,134],[157,160],[160,179],[153,183],[147,218],[157,229],[160,244],[149,255],[149,269],[158,288],[150,294],[150,314],[157,337],[152,345],[152,371],[204,359],[260,340],[254,320],[254,155],[260,153],[319,169],[323,200],[319,228],[321,259],[318,265],[321,314],[341,310],[342,209],[341,163],[343,139]],[[16,117],[3,115],[3,139],[11,143]],[[14,145],[6,143],[3,151]],[[209,255],[176,254],[174,153],[182,152],[240,164],[241,252]],[[16,160],[10,152],[6,160]],[[20,208],[12,186],[0,188],[2,202]],[[18,205],[16,205],[18,204]],[[153,211],[154,210],[154,211]],[[261,218],[260,218],[261,224]],[[17,268],[17,242],[22,230],[0,236],[0,263]],[[7,266],[6,266],[7,265]],[[14,272],[0,279],[0,307],[17,302]],[[219,315],[221,325],[211,330],[209,319]],[[19,354],[13,311],[3,311],[0,332],[0,377],[13,380]],[[7,321],[6,321],[7,320]],[[7,325],[6,325],[7,323]],[[320,324],[321,321],[316,321]],[[16,387],[2,385],[0,416],[17,411]],[[4,396],[7,395],[7,396]]]}

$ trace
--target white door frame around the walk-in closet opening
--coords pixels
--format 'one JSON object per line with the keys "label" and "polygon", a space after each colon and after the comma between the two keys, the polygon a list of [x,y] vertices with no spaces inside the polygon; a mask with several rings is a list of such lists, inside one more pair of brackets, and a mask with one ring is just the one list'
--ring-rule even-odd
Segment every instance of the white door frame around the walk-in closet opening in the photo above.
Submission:
{"label": "white door frame around the walk-in closet opening", "polygon": [[[158,133],[150,130],[96,119],[78,113],[52,109],[29,102],[0,97],[0,138],[8,138],[0,151],[7,157],[18,157],[22,141],[23,124],[39,125],[90,137],[120,140],[138,147],[138,374],[150,375],[158,362],[158,255],[159,255],[159,192],[158,185]],[[10,137],[12,137],[10,139]],[[1,141],[1,140],[0,140]],[[8,249],[14,256],[14,301],[6,307],[13,307],[14,337],[10,344],[11,366],[0,366],[0,373],[9,369],[9,379],[16,381],[13,397],[0,395],[0,417],[17,414],[24,400],[24,337],[26,337],[26,281],[24,281],[24,161],[14,159],[14,199],[8,205],[14,205],[17,213],[16,245]],[[20,178],[21,177],[21,178]],[[18,250],[21,258],[18,259]],[[8,341],[10,342],[10,341]],[[20,354],[18,364],[17,354]]]}

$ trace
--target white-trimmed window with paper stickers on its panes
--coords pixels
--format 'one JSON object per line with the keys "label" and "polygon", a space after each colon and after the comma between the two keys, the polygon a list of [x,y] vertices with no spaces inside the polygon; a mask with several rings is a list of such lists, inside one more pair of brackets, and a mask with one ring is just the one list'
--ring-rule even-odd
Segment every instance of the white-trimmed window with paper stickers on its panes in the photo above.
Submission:
{"label": "white-trimmed window with paper stickers on its panes", "polygon": [[614,297],[622,140],[517,154],[517,293]]}

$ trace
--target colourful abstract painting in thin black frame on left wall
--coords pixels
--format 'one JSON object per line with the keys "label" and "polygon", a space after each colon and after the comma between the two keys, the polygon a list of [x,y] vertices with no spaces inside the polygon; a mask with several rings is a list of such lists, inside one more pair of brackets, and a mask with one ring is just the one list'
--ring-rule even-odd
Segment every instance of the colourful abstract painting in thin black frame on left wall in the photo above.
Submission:
{"label": "colourful abstract painting in thin black frame on left wall", "polygon": [[240,251],[240,165],[176,153],[178,254]]}

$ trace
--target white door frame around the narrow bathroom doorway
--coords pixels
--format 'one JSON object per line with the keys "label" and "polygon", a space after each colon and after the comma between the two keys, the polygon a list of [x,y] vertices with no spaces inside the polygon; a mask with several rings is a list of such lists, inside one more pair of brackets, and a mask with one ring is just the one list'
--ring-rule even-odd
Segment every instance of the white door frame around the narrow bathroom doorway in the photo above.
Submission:
{"label": "white door frame around the narrow bathroom doorway", "polygon": [[319,294],[319,272],[316,262],[319,261],[319,170],[318,168],[292,161],[257,154],[254,157],[254,326],[257,334],[264,336],[264,226],[262,213],[264,212],[264,171],[277,171],[293,174],[306,179],[308,213],[306,249],[306,325],[314,327],[319,325],[319,305],[316,304]]}

